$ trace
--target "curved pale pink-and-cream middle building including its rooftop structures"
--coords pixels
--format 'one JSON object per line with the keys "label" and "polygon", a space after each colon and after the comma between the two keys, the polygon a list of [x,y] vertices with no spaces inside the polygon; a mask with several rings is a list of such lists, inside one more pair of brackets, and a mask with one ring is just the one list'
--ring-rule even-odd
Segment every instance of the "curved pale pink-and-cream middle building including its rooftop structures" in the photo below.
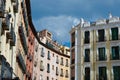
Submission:
{"label": "curved pale pink-and-cream middle building including its rooftop structures", "polygon": [[48,30],[35,38],[33,80],[69,80],[70,50],[52,40]]}

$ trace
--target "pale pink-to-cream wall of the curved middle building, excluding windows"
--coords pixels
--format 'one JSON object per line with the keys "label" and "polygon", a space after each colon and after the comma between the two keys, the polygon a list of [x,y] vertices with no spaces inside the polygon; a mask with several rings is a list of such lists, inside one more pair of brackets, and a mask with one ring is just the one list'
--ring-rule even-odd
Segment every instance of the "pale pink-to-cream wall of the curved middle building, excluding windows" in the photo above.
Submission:
{"label": "pale pink-to-cream wall of the curved middle building, excluding windows", "polygon": [[[43,41],[44,42],[44,41]],[[42,55],[42,49],[43,55]],[[68,48],[65,48],[66,50]],[[69,50],[68,54],[65,56],[64,53],[56,52],[44,43],[39,43],[35,39],[35,49],[34,49],[34,67],[33,67],[33,80],[69,80],[70,79],[70,56]],[[48,58],[48,51],[50,52]],[[66,51],[64,51],[66,52]],[[56,62],[58,56],[58,62]],[[63,65],[61,65],[61,58],[63,58]],[[66,66],[66,59],[68,59],[68,66]],[[43,64],[41,64],[41,61]],[[50,65],[50,71],[47,71],[47,64]],[[42,65],[42,66],[41,66]],[[56,67],[58,67],[58,74],[56,74]],[[61,75],[61,69],[63,69],[63,74]],[[68,70],[68,76],[66,76],[66,70]],[[47,77],[49,79],[47,79]]]}

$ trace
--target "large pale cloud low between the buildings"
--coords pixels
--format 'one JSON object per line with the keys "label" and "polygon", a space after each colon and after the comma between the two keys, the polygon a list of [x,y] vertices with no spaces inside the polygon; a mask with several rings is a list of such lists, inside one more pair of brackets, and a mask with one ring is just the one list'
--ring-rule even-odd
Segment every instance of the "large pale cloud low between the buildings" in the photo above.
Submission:
{"label": "large pale cloud low between the buildings", "polygon": [[69,31],[73,25],[79,23],[79,19],[72,16],[50,16],[38,20],[33,20],[37,30],[48,29],[53,33],[53,39],[59,43],[69,43]]}

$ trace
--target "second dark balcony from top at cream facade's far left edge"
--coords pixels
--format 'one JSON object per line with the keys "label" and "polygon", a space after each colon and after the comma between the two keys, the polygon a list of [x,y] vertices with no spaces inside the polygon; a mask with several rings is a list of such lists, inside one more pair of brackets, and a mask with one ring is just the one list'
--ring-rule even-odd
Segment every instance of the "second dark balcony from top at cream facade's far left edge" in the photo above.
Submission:
{"label": "second dark balcony from top at cream facade's far left edge", "polygon": [[10,25],[10,14],[6,14],[5,18],[2,19],[2,28],[3,30],[9,30]]}

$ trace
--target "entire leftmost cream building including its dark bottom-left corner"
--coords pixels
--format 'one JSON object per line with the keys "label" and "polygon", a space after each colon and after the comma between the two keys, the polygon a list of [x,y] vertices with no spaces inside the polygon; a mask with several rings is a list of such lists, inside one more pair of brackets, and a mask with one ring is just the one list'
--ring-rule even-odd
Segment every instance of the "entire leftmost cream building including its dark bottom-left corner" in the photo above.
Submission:
{"label": "entire leftmost cream building including its dark bottom-left corner", "polygon": [[14,75],[16,61],[16,37],[18,1],[0,0],[0,80],[17,78]]}

